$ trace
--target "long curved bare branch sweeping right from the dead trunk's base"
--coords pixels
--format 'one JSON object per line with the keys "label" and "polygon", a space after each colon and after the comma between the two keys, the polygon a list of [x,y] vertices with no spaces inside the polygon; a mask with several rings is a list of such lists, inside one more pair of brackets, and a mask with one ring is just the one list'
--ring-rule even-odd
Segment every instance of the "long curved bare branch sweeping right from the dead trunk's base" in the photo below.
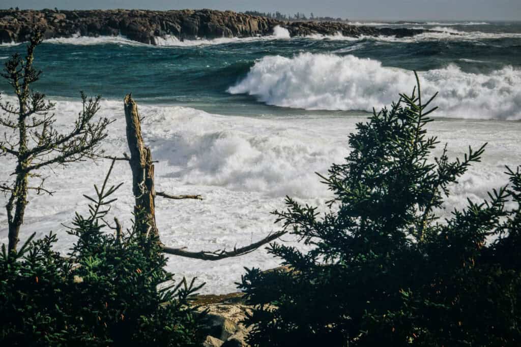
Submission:
{"label": "long curved bare branch sweeping right from the dead trunk's base", "polygon": [[241,248],[234,248],[233,251],[215,251],[215,252],[208,252],[208,251],[200,251],[200,252],[190,252],[184,250],[184,248],[170,248],[163,246],[163,252],[171,255],[179,255],[184,256],[185,258],[193,258],[193,259],[200,259],[200,260],[221,260],[225,258],[232,258],[234,256],[240,256],[247,253],[251,253],[255,251],[257,248],[266,245],[266,243],[269,243],[271,241],[274,241],[281,237],[282,235],[286,234],[286,230],[281,230],[280,232],[270,234],[267,237],[263,238],[260,241],[257,241],[255,243],[251,243],[251,245],[244,246]]}

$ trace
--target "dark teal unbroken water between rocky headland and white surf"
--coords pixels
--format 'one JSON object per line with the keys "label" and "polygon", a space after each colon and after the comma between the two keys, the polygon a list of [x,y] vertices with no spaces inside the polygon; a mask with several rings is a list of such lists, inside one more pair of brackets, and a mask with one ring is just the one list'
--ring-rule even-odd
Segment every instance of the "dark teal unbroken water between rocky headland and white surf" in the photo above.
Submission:
{"label": "dark teal unbroken water between rocky headland and white surf", "polygon": [[[36,65],[44,75],[35,87],[58,98],[76,98],[80,90],[109,99],[120,99],[132,92],[141,102],[190,106],[220,114],[291,114],[286,108],[281,110],[266,106],[269,102],[257,101],[258,95],[232,95],[228,88],[244,79],[259,59],[292,58],[301,53],[369,58],[381,62],[382,67],[418,71],[450,66],[462,73],[489,75],[505,67],[512,67],[517,74],[521,68],[521,23],[393,25],[398,26],[444,32],[403,40],[274,37],[162,47],[122,40],[98,42],[94,38],[51,40],[38,47]],[[6,60],[23,50],[23,44],[0,46],[0,59]],[[0,81],[0,89],[9,93],[4,80]],[[298,106],[291,107],[307,108]],[[349,111],[349,107],[340,108]]]}

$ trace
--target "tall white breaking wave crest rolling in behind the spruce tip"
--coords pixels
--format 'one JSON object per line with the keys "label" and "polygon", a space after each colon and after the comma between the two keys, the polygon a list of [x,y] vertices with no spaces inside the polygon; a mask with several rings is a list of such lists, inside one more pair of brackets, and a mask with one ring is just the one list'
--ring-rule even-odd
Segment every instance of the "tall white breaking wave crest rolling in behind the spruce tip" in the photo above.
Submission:
{"label": "tall white breaking wave crest rolling in behind the spruce tip", "polygon": [[[505,67],[489,74],[451,65],[420,73],[425,95],[439,92],[438,115],[474,119],[521,119],[521,71]],[[303,53],[268,56],[228,89],[269,105],[324,110],[366,110],[389,105],[415,84],[412,71],[383,67],[352,55]]]}

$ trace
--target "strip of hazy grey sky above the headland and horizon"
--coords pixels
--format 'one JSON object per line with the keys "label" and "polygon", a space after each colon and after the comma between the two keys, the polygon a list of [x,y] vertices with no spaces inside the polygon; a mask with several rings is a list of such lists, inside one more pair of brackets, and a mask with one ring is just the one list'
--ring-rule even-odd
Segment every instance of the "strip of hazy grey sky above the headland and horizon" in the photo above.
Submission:
{"label": "strip of hazy grey sky above the headland and horizon", "polygon": [[1,0],[0,8],[214,8],[349,19],[521,20],[521,0]]}

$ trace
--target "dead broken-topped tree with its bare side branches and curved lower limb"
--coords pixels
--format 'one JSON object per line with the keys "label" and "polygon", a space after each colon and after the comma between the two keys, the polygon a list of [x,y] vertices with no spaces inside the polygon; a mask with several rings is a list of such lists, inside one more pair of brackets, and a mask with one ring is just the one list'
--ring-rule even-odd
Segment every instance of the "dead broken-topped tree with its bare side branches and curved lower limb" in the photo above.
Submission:
{"label": "dead broken-topped tree with its bare side branches and curved lower limb", "polygon": [[[134,204],[134,223],[142,233],[153,233],[159,236],[159,230],[155,218],[155,197],[160,196],[167,199],[199,199],[200,195],[170,195],[165,192],[156,192],[154,189],[154,162],[150,148],[146,147],[141,136],[141,118],[138,112],[138,105],[128,94],[123,99],[125,106],[125,120],[127,122],[127,142],[130,149],[130,157],[125,155],[123,158],[106,157],[113,160],[126,160],[130,163],[132,170],[132,191],[135,198]],[[117,222],[116,222],[117,224]],[[120,228],[120,227],[119,227]],[[117,229],[117,227],[116,227]],[[266,245],[280,236],[286,234],[286,230],[270,234],[260,241],[251,245],[233,250],[200,251],[192,252],[184,248],[170,248],[163,245],[163,251],[172,255],[184,256],[186,258],[201,260],[221,260],[232,256],[239,256],[253,252],[257,248]]]}

